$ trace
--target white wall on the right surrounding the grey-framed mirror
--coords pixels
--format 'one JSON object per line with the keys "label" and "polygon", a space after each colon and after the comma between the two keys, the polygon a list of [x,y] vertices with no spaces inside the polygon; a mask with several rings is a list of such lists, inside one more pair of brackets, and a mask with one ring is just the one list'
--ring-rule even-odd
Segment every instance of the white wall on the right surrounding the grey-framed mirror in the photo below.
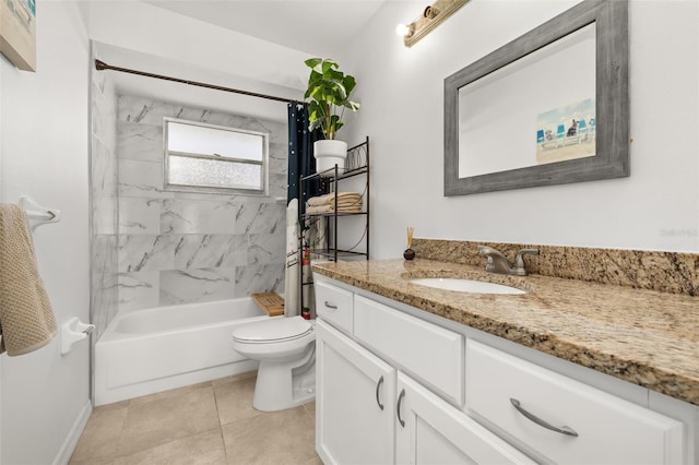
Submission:
{"label": "white wall on the right surrounding the grey-framed mirror", "polygon": [[630,178],[443,196],[443,79],[574,3],[473,0],[405,48],[395,25],[424,5],[387,2],[348,46],[341,62],[363,107],[343,138],[371,136],[374,258],[401,257],[407,226],[423,238],[699,251],[696,1],[630,2]]}

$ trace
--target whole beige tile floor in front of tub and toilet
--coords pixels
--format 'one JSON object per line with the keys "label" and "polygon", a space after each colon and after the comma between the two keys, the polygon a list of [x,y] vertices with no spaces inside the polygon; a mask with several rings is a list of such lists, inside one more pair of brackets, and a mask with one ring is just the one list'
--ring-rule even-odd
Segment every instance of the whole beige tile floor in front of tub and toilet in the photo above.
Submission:
{"label": "whole beige tile floor in front of tub and toilet", "polygon": [[252,408],[254,372],[95,407],[71,465],[322,464],[313,403]]}

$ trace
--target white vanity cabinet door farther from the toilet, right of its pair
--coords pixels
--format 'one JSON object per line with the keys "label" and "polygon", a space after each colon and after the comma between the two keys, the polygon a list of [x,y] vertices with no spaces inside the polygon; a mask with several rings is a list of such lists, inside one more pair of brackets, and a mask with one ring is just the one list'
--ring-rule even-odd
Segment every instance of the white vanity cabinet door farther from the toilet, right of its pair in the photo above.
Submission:
{"label": "white vanity cabinet door farther from the toilet, right of its pair", "polygon": [[398,464],[533,464],[407,375],[398,373]]}

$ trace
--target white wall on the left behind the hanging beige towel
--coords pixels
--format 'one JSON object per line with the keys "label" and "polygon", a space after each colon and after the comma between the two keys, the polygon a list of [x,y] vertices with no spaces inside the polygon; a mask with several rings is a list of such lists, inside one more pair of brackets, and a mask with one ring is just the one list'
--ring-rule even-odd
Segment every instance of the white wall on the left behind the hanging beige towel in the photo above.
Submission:
{"label": "white wall on the left behind the hanging beige towel", "polygon": [[[88,321],[87,37],[73,3],[37,2],[37,72],[0,58],[0,199],[22,194],[59,208],[34,234],[58,324]],[[3,464],[67,463],[90,414],[88,345],[61,356],[60,336],[0,356]]]}

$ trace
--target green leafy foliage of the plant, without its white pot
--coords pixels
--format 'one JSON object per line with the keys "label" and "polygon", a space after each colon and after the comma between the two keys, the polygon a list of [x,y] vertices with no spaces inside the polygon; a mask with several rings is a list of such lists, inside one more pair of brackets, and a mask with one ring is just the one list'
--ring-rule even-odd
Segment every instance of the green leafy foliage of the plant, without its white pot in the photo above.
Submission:
{"label": "green leafy foliage of the plant, without its white pot", "polygon": [[357,85],[354,76],[340,71],[336,61],[322,58],[309,58],[305,61],[310,68],[308,90],[304,98],[308,103],[309,130],[320,128],[325,139],[335,139],[335,133],[344,126],[342,117],[345,108],[359,109],[359,104],[350,100]]}

